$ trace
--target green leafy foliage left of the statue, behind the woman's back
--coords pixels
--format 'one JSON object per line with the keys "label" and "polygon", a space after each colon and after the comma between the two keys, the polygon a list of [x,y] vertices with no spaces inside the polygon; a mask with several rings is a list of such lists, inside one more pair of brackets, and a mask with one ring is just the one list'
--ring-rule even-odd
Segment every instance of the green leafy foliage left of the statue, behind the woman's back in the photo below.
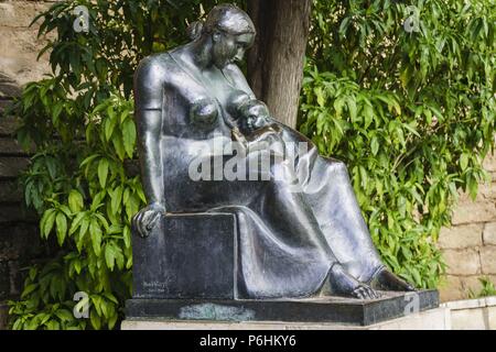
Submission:
{"label": "green leafy foliage left of the statue, behind the woman's back", "polygon": [[[40,215],[41,237],[56,237],[61,251],[30,270],[21,300],[11,302],[13,329],[112,329],[122,318],[130,219],[145,201],[132,167],[132,75],[142,57],[186,40],[187,20],[203,9],[183,2],[66,1],[39,16],[52,75],[29,84],[10,113],[22,118],[18,140],[36,150],[21,180],[26,205]],[[80,4],[87,33],[74,28]],[[77,302],[78,292],[88,296]],[[75,319],[76,302],[80,314],[89,307],[89,323]]]}

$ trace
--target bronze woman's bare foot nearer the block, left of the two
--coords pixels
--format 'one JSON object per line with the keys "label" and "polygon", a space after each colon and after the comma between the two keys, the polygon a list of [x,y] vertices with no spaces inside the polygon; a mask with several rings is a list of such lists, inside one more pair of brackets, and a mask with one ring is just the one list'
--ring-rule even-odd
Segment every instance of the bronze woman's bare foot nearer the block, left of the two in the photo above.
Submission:
{"label": "bronze woman's bare foot nearer the block, left of the two", "polygon": [[333,294],[359,299],[379,298],[378,293],[367,284],[358,282],[355,277],[346,273],[339,264],[334,264],[328,279]]}

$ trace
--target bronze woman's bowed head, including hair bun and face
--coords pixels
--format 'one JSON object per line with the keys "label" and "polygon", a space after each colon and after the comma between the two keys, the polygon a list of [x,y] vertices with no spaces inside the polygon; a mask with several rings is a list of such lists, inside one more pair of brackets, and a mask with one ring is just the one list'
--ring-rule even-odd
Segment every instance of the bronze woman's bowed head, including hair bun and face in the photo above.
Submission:
{"label": "bronze woman's bowed head, including hair bun and face", "polygon": [[193,40],[212,37],[212,59],[218,68],[240,61],[252,45],[256,34],[248,14],[233,4],[216,6],[204,23],[193,23],[188,32]]}

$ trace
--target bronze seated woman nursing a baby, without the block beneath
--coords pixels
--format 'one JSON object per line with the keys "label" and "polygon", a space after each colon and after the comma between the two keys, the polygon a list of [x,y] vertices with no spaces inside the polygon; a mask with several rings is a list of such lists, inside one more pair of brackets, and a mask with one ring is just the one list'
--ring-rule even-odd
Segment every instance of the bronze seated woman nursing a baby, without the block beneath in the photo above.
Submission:
{"label": "bronze seated woman nursing a baby, without the block beneath", "polygon": [[[234,213],[244,298],[371,299],[378,290],[412,290],[381,263],[345,165],[320,156],[310,140],[270,117],[236,66],[255,38],[249,16],[234,6],[217,6],[190,34],[192,42],[144,58],[136,73],[149,205],[134,216],[133,231],[149,235],[166,211]],[[198,157],[212,160],[214,173],[233,157],[213,150],[214,140],[246,146],[237,165],[246,164],[249,179],[192,179]],[[284,147],[306,143],[308,150],[296,158],[271,160],[261,175],[249,166],[273,156],[267,141]],[[291,177],[276,177],[280,173]]]}

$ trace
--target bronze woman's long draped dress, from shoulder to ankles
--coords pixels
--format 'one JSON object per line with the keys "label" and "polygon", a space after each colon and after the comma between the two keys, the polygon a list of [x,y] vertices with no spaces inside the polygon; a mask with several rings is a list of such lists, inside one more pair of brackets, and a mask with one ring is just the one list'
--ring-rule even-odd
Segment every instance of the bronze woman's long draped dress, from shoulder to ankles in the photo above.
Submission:
{"label": "bronze woman's long draped dress, from shoulder to ankles", "polygon": [[[249,166],[260,165],[271,151],[265,145],[249,150],[240,164],[257,180],[249,180],[249,175],[246,180],[193,179],[192,163],[211,161],[214,173],[233,157],[224,148],[213,147],[231,141],[233,131],[226,123],[230,118],[227,94],[198,79],[173,54],[158,54],[140,64],[134,82],[136,109],[162,112],[157,133],[168,212],[235,215],[239,298],[316,295],[335,263],[368,283],[384,265],[362,217],[346,166],[319,155],[312,142],[299,132],[272,121],[281,130],[277,138],[287,145],[304,142],[309,147],[295,158],[272,162],[265,174],[262,167],[254,170]],[[244,90],[252,96],[237,67],[230,65],[224,74],[230,87],[220,89]],[[193,122],[191,109],[198,101],[215,103],[217,117],[213,123]],[[290,174],[292,182],[276,177],[278,173]]]}

